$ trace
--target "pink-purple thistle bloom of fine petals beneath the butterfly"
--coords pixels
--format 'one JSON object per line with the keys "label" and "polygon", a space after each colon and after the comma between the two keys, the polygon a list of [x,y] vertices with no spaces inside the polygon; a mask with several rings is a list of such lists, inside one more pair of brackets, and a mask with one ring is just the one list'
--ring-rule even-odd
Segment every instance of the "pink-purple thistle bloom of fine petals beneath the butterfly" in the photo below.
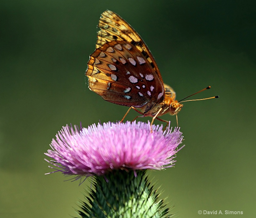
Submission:
{"label": "pink-purple thistle bloom of fine petals beneath the butterfly", "polygon": [[182,142],[179,128],[152,126],[143,122],[93,124],[78,129],[63,127],[53,139],[51,149],[45,155],[54,159],[48,161],[52,169],[65,175],[83,176],[104,175],[117,169],[156,169],[172,167],[174,155]]}

